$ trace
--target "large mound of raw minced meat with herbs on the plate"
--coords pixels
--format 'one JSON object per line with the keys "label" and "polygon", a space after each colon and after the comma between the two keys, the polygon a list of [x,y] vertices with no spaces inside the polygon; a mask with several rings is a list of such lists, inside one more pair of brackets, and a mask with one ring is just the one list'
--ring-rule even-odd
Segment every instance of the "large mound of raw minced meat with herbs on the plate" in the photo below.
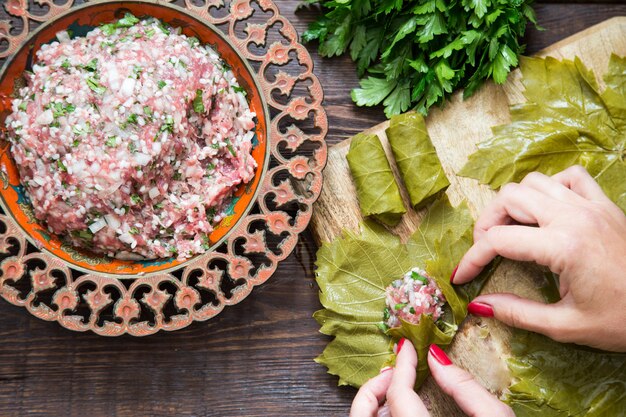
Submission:
{"label": "large mound of raw minced meat with herbs on the plate", "polygon": [[43,45],[6,119],[36,217],[119,258],[202,253],[254,177],[255,114],[209,47],[126,15]]}

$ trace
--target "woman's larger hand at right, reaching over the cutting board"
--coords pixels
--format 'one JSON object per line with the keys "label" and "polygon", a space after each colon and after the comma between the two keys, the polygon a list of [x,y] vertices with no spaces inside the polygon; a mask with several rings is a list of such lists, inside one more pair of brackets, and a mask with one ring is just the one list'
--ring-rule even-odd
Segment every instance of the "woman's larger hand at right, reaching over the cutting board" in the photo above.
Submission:
{"label": "woman's larger hand at right, reaching over the cutting board", "polygon": [[584,168],[531,173],[503,187],[451,280],[472,280],[496,255],[549,267],[560,276],[561,300],[481,295],[470,313],[560,342],[626,351],[626,216]]}

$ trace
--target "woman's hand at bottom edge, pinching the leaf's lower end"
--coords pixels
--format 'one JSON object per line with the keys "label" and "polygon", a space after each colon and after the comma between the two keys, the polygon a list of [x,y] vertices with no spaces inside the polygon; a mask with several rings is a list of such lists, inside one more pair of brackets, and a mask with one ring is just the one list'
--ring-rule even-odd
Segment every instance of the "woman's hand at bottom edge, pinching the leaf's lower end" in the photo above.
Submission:
{"label": "woman's hand at bottom edge, pinching the leaf's lower end", "polygon": [[[413,390],[417,353],[400,339],[395,368],[383,369],[354,397],[350,417],[428,417],[426,406]],[[515,417],[513,411],[483,388],[466,371],[452,364],[438,346],[428,352],[428,366],[441,389],[470,416]],[[387,402],[385,403],[385,399]]]}

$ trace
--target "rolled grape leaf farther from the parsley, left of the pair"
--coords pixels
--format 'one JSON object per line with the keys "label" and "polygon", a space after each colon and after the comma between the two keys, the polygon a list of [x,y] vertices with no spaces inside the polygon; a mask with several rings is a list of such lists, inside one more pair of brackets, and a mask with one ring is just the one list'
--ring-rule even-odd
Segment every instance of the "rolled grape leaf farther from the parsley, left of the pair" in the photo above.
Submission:
{"label": "rolled grape leaf farther from the parsley, left of the pair", "polygon": [[361,133],[353,137],[346,158],[363,216],[389,226],[398,224],[406,209],[378,136]]}

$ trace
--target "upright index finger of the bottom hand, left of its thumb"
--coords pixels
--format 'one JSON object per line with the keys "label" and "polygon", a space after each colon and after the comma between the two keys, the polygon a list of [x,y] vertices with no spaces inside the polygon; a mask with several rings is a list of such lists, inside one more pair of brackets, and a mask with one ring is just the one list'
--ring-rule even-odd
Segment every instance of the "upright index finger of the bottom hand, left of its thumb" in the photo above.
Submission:
{"label": "upright index finger of the bottom hand, left of its thumb", "polygon": [[[404,341],[404,342],[403,342]],[[415,386],[417,353],[411,342],[400,339],[387,405],[393,417],[428,417],[426,406],[413,390]]]}

